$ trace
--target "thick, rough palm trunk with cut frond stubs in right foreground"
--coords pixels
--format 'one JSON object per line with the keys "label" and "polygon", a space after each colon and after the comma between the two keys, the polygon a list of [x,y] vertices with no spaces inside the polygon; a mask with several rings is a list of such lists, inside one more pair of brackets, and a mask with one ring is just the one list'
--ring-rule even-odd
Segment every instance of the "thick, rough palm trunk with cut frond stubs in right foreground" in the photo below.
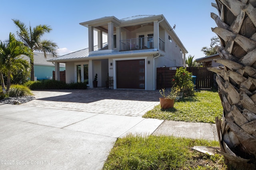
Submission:
{"label": "thick, rough palm trunk with cut frond stubs in right foreground", "polygon": [[256,1],[216,0],[212,13],[224,67],[212,67],[223,106],[216,118],[220,154],[234,169],[256,169]]}

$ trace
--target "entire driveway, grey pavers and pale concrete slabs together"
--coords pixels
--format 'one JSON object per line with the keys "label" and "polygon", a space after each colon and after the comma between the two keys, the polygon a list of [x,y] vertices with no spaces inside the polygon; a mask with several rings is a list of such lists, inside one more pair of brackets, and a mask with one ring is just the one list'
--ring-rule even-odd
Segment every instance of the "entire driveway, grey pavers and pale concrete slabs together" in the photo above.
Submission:
{"label": "entire driveway, grey pavers and pale concrete slabs together", "polygon": [[152,134],[163,122],[141,116],[158,91],[34,91],[36,100],[0,104],[0,169],[103,167],[118,137]]}

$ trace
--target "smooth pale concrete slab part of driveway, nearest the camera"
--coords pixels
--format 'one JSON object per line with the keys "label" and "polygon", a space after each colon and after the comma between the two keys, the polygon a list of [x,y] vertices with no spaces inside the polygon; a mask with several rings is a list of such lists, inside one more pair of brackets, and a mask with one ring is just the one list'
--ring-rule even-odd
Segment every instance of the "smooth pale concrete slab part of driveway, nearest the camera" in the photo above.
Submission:
{"label": "smooth pale concrete slab part of driveway, nearest the camera", "polygon": [[152,134],[163,121],[121,115],[0,105],[0,169],[103,167],[118,137]]}

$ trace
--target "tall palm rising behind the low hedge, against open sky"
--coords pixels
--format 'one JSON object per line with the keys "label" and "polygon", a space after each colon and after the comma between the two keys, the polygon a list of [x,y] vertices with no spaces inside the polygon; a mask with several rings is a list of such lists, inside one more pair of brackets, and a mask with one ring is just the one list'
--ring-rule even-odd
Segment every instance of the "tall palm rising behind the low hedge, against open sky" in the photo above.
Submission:
{"label": "tall palm rising behind the low hedge, against open sky", "polygon": [[[14,20],[14,24],[19,29],[17,31],[17,34],[20,38],[20,41],[24,43],[27,47],[30,48],[30,50],[33,51],[39,51],[44,53],[44,57],[46,58],[46,54],[50,53],[54,56],[57,55],[56,48],[58,48],[58,45],[51,40],[42,40],[42,36],[45,33],[49,33],[52,29],[50,26],[47,25],[38,25],[35,28],[32,28],[29,26],[27,28],[23,22],[20,22],[19,20]],[[34,81],[34,55],[30,57],[30,64],[31,64],[31,77],[30,79]]]}

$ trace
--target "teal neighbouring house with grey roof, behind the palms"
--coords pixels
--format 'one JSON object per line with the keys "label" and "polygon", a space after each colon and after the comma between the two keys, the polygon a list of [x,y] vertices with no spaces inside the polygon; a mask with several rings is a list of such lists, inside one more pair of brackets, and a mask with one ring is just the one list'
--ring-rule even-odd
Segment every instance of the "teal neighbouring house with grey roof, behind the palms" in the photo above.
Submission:
{"label": "teal neighbouring house with grey roof, behind the palms", "polygon": [[[23,55],[23,58],[30,62],[30,59]],[[48,59],[53,58],[51,54],[47,54],[46,58],[44,53],[34,52],[34,74],[37,80],[52,79],[52,71],[55,70],[55,64],[48,62]],[[65,70],[65,63],[60,64],[60,71]]]}

